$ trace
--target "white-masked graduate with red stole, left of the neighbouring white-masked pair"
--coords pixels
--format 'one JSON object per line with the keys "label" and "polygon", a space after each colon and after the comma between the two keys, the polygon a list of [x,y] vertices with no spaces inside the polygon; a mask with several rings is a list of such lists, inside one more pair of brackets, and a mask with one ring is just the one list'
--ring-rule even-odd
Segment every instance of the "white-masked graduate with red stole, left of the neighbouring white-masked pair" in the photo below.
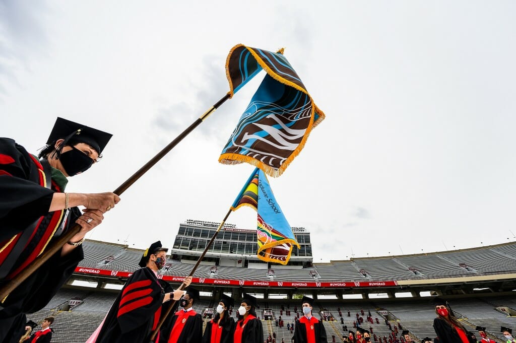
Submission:
{"label": "white-masked graduate with red stole, left of the neighbouring white-masked pair", "polygon": [[229,310],[235,305],[233,298],[222,293],[215,317],[206,323],[202,343],[233,343],[235,320]]}

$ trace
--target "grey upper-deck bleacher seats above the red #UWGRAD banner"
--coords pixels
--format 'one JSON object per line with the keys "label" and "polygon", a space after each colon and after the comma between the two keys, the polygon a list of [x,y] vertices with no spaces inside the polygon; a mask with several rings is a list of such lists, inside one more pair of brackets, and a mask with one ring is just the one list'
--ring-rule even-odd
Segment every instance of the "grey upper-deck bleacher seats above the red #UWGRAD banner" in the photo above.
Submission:
{"label": "grey upper-deck bleacher seats above the red #UWGRAD banner", "polygon": [[[138,269],[142,251],[127,249],[121,244],[98,241],[84,242],[86,258],[79,267],[102,268],[132,272]],[[106,257],[112,260],[106,263]],[[184,276],[192,265],[169,260],[169,270],[164,275]],[[241,267],[217,266],[217,273],[211,274],[212,266],[200,265],[196,277],[214,279],[268,281],[267,270]],[[363,275],[360,271],[365,271]],[[467,277],[516,272],[516,244],[476,248],[457,252],[441,252],[393,257],[355,258],[349,261],[333,261],[330,264],[314,264],[304,269],[273,268],[275,281],[314,280],[311,271],[316,271],[319,281],[386,281],[424,280],[446,277]]]}

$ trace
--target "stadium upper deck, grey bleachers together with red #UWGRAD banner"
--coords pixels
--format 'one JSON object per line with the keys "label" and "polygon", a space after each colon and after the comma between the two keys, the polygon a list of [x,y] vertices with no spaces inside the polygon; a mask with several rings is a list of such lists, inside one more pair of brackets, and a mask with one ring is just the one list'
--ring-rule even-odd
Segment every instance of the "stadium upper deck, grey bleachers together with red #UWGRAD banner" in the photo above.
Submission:
{"label": "stadium upper deck, grey bleachers together with red #UWGRAD banner", "polygon": [[[96,274],[125,278],[138,268],[142,250],[121,244],[88,240],[86,258],[76,274]],[[176,255],[160,271],[163,278],[179,282],[193,261]],[[242,264],[243,265],[243,264]],[[265,265],[267,266],[267,265]],[[256,269],[221,266],[217,260],[204,262],[194,277],[206,285],[253,287],[388,287],[460,283],[499,282],[496,287],[509,290],[516,280],[516,243],[498,244],[458,251],[420,255],[355,258],[309,267],[269,266]],[[490,287],[490,286],[487,286]],[[463,286],[463,289],[467,287]]]}

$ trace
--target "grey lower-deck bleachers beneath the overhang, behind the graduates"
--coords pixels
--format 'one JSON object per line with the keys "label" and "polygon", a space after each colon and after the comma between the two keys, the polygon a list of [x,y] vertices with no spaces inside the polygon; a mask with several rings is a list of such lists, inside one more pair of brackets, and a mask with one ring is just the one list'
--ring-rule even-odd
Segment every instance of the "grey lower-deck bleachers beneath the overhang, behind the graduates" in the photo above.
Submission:
{"label": "grey lower-deck bleachers beneath the overhang, behind the graduates", "polygon": [[[39,321],[46,316],[54,314],[56,317],[55,323],[52,325],[54,329],[53,342],[55,343],[78,343],[85,342],[86,339],[93,333],[93,331],[101,323],[111,304],[117,297],[116,291],[98,291],[98,290],[83,290],[73,288],[62,288],[52,299],[52,301],[45,306],[41,311],[35,314],[27,315],[28,320]],[[65,311],[55,314],[52,310],[64,302],[71,299],[80,299],[82,303],[74,307],[72,311]],[[509,296],[484,296],[484,297],[455,297],[449,299],[449,303],[456,316],[461,320],[462,324],[467,330],[475,331],[476,325],[486,326],[489,334],[502,340],[502,334],[499,332],[500,326],[507,326],[509,328],[516,328],[516,317],[509,317],[506,314],[499,312],[496,307],[507,306],[516,308],[516,295]],[[287,299],[269,299],[263,300],[259,303],[260,308],[256,309],[256,313],[260,318],[263,317],[265,309],[271,309],[273,318],[271,321],[263,320],[264,338],[270,333],[276,333],[276,341],[281,343],[283,338],[285,342],[290,343],[292,334],[287,330],[287,324],[293,324],[296,318],[294,311],[297,306],[298,312],[301,311],[299,300]],[[291,315],[288,316],[286,311],[281,312],[281,306],[285,309],[291,310]],[[213,299],[202,299],[193,306],[201,315],[206,308],[214,308],[215,302]],[[409,330],[416,338],[435,337],[433,331],[433,319],[436,317],[434,306],[428,299],[386,299],[386,300],[320,300],[315,303],[313,314],[323,319],[320,315],[321,311],[331,314],[335,321],[324,321],[327,331],[328,341],[332,341],[332,335],[335,335],[336,341],[341,341],[342,335],[347,336],[347,332],[343,331],[343,324],[341,317],[338,314],[338,309],[341,309],[344,324],[348,326],[348,330],[356,331],[353,328],[353,321],[357,319],[356,314],[362,316],[364,319],[362,328],[369,330],[373,328],[373,334],[377,338],[388,337],[390,330],[385,325],[385,317],[380,314],[380,311],[388,312],[391,318],[391,325],[397,326],[398,323],[402,329]],[[361,310],[364,315],[361,315]],[[350,312],[350,317],[347,312]],[[370,311],[373,323],[366,321],[368,312]],[[284,326],[279,328],[276,326],[275,320],[281,315]],[[300,313],[301,315],[301,313]],[[236,317],[236,312],[233,311],[233,317]],[[376,323],[378,318],[379,323]],[[205,322],[209,319],[205,318]],[[397,337],[401,334],[401,329]],[[372,338],[372,341],[374,339]],[[378,341],[378,340],[377,340]]]}

